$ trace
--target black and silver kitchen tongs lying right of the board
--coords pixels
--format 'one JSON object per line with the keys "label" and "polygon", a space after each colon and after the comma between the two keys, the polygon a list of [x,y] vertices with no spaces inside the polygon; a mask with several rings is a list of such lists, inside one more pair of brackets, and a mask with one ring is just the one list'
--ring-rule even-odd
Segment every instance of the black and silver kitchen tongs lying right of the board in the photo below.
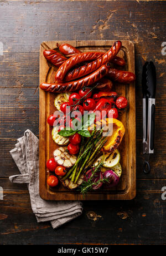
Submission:
{"label": "black and silver kitchen tongs lying right of the board", "polygon": [[153,62],[146,62],[142,71],[143,93],[143,154],[147,154],[143,172],[150,173],[150,154],[154,153],[154,120],[155,120],[156,72]]}

